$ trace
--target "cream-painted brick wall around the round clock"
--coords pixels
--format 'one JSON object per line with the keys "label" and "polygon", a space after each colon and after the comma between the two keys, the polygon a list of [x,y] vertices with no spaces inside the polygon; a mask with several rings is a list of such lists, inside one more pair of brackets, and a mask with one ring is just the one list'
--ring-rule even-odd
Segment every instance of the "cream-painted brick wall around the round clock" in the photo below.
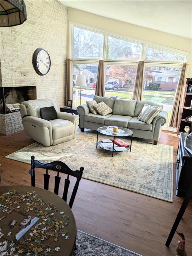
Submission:
{"label": "cream-painted brick wall around the round clock", "polygon": [[[64,103],[68,9],[58,0],[25,0],[27,21],[1,28],[1,86],[37,86],[37,98]],[[51,58],[51,69],[38,75],[32,64],[33,53],[44,48]]]}

